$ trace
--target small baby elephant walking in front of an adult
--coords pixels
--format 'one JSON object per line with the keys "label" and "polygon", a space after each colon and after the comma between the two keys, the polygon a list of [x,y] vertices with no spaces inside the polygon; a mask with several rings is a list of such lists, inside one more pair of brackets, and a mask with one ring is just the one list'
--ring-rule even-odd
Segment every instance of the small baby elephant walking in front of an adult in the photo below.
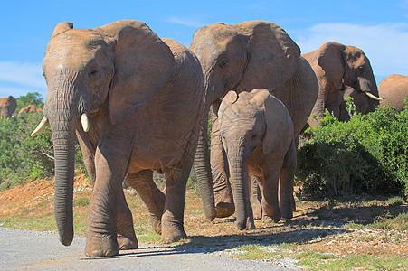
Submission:
{"label": "small baby elephant walking in front of an adult", "polygon": [[240,94],[230,91],[223,98],[220,112],[220,132],[232,180],[237,228],[254,228],[250,175],[259,180],[262,220],[291,219],[296,148],[288,109],[269,90],[253,89]]}

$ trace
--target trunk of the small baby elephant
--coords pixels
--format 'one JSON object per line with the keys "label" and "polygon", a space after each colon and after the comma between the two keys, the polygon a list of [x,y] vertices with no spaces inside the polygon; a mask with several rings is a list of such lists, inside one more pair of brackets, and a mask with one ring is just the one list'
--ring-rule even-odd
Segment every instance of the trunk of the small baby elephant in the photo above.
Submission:
{"label": "trunk of the small baby elephant", "polygon": [[[235,150],[235,148],[232,148]],[[238,153],[238,154],[236,154]],[[243,230],[246,228],[248,219],[249,204],[249,174],[246,162],[242,152],[237,151],[234,154],[227,154],[230,164],[230,173],[232,178],[232,188],[236,206],[236,226]]]}

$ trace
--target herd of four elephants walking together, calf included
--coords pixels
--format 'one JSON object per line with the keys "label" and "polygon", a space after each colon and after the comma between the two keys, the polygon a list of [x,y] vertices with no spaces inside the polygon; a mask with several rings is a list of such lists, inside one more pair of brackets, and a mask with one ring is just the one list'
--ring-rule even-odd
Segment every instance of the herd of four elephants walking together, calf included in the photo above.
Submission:
{"label": "herd of four elephants walking together, calf included", "polygon": [[[138,248],[123,181],[146,203],[163,242],[185,238],[185,185],[193,162],[208,220],[235,210],[238,229],[253,229],[259,213],[266,223],[291,219],[302,129],[317,126],[324,108],[340,116],[345,86],[367,97],[361,98],[365,111],[379,100],[363,51],[327,42],[301,55],[288,33],[264,21],[204,26],[189,48],[157,37],[137,21],[93,29],[59,23],[43,73],[48,86],[43,120],[32,135],[51,126],[54,213],[65,246],[73,238],[75,137],[79,140],[94,183],[88,257]],[[157,188],[154,171],[165,174],[166,192]],[[261,191],[255,213],[250,180]]]}

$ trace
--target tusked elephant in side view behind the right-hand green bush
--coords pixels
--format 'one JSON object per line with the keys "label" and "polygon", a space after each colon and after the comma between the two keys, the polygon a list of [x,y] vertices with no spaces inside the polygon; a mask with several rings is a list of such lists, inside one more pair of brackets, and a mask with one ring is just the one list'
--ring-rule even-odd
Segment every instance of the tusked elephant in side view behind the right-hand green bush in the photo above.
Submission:
{"label": "tusked elephant in side view behind the right-hand green bush", "polygon": [[354,46],[337,42],[326,42],[316,51],[302,56],[308,60],[318,77],[318,99],[308,119],[308,126],[318,126],[324,117],[325,109],[339,118],[337,100],[339,91],[345,85],[358,92],[363,92],[369,99],[368,111],[372,112],[379,105],[378,89],[373,69],[364,51]]}

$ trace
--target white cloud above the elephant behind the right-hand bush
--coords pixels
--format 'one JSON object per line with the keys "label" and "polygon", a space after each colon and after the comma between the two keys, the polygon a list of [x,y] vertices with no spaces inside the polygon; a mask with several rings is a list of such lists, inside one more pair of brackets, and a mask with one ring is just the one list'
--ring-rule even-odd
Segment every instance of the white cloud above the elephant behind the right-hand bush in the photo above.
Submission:
{"label": "white cloud above the elephant behind the right-hand bush", "polygon": [[393,73],[408,75],[408,23],[369,26],[319,23],[303,33],[296,33],[293,38],[302,53],[315,51],[329,41],[361,48],[369,58],[377,80]]}

